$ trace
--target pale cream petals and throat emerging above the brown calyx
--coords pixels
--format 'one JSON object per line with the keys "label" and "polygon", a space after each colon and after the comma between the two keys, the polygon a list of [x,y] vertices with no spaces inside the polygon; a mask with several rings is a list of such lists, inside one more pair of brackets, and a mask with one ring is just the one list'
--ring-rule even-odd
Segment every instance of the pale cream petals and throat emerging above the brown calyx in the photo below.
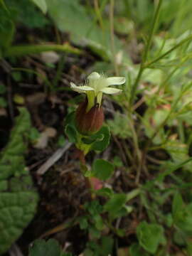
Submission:
{"label": "pale cream petals and throat emerging above the brown calyx", "polygon": [[96,104],[101,106],[102,93],[114,95],[119,94],[122,90],[110,87],[110,85],[122,85],[125,82],[123,77],[107,78],[105,75],[100,75],[97,72],[91,73],[87,77],[85,85],[77,86],[73,82],[70,82],[70,87],[75,92],[85,93],[87,95],[87,109],[88,112]]}

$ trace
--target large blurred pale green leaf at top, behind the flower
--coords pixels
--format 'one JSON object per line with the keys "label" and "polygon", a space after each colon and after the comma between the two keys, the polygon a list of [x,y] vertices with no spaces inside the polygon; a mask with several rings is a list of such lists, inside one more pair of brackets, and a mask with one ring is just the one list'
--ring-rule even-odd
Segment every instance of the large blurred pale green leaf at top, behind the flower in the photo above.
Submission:
{"label": "large blurred pale green leaf at top, behind the flower", "polygon": [[[70,33],[74,43],[90,47],[105,60],[111,58],[109,26],[103,30],[99,28],[79,0],[46,0],[46,3],[55,24],[60,31]],[[116,50],[121,50],[122,43],[115,36],[114,43]]]}

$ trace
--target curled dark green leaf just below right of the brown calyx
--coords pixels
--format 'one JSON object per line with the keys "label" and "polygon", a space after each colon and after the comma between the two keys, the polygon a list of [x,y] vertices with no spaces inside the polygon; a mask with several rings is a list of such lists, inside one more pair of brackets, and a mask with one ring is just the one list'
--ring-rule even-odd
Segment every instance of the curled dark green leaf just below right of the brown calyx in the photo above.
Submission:
{"label": "curled dark green leaf just below right of the brown calyx", "polygon": [[103,151],[110,144],[110,129],[107,126],[103,126],[99,132],[97,132],[97,136],[103,134],[103,139],[100,142],[94,142],[92,144],[91,149],[95,151]]}

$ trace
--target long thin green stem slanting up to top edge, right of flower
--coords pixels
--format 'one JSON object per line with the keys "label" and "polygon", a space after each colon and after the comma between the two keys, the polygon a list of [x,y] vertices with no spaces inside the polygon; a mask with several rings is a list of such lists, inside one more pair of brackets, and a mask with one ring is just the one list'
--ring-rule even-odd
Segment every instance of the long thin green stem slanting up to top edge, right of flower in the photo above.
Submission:
{"label": "long thin green stem slanting up to top edge, right of flower", "polygon": [[155,14],[154,14],[154,19],[153,19],[153,22],[152,22],[151,32],[150,32],[150,34],[149,34],[149,39],[148,39],[148,41],[147,41],[147,43],[146,43],[146,48],[145,48],[145,50],[144,50],[144,55],[143,55],[143,58],[142,58],[142,63],[141,63],[141,65],[140,65],[139,73],[138,73],[138,75],[137,75],[137,78],[136,78],[136,80],[135,80],[135,82],[134,82],[134,85],[133,85],[133,87],[132,87],[131,105],[132,105],[132,103],[134,102],[134,97],[135,97],[135,94],[136,94],[136,92],[137,92],[137,88],[138,88],[138,86],[139,86],[139,80],[140,80],[141,77],[142,77],[142,73],[144,72],[144,68],[146,68],[145,65],[144,65],[144,63],[146,63],[147,55],[148,55],[148,53],[149,53],[149,48],[150,48],[150,46],[151,46],[152,38],[153,38],[153,36],[154,36],[154,32],[155,32],[155,29],[156,29],[156,24],[157,24],[157,21],[158,21],[158,19],[159,19],[159,13],[160,13],[160,8],[161,8],[162,1],[163,1],[163,0],[159,0],[159,4],[158,4],[158,6],[156,7],[156,11],[155,11]]}

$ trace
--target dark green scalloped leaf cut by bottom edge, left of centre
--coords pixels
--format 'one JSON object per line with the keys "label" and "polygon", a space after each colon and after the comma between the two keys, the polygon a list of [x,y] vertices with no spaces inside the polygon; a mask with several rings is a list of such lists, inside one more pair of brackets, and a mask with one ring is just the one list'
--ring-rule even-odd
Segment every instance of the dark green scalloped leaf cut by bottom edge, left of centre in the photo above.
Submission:
{"label": "dark green scalloped leaf cut by bottom edge, left of centre", "polygon": [[47,242],[45,240],[36,240],[29,250],[29,256],[43,255],[60,256],[61,250],[58,241],[55,239],[49,239]]}

